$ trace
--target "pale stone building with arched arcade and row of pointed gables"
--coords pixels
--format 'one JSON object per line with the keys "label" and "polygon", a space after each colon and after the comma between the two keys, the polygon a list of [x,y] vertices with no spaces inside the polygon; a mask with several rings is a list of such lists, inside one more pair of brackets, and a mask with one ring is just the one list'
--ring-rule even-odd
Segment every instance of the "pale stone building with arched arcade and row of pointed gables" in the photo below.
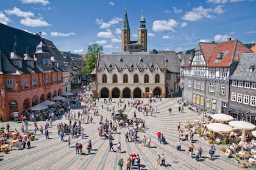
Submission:
{"label": "pale stone building with arched arcade and row of pointed gables", "polygon": [[96,66],[97,95],[101,98],[165,97],[168,88],[176,92],[179,89],[179,64],[175,52],[100,54]]}

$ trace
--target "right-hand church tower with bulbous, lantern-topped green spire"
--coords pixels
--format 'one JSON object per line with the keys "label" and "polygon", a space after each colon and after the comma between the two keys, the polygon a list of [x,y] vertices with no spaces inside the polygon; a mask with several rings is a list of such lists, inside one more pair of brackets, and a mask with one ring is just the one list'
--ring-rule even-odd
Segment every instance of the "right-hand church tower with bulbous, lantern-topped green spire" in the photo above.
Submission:
{"label": "right-hand church tower with bulbous, lantern-topped green spire", "polygon": [[138,42],[141,44],[141,52],[147,52],[147,37],[148,30],[146,29],[146,19],[144,18],[144,11],[140,18],[140,29],[138,30]]}

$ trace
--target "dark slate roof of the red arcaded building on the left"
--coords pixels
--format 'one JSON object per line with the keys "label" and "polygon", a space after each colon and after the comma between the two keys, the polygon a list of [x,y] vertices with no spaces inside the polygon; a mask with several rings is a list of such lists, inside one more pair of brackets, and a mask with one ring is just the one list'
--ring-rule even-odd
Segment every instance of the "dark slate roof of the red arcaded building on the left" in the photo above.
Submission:
{"label": "dark slate roof of the red arcaded building on the left", "polygon": [[[65,59],[60,54],[59,50],[57,50],[57,48],[54,46],[54,44],[44,38],[42,38],[42,41],[46,45],[44,46],[44,48],[46,48],[46,50],[51,52],[51,54],[55,56],[55,58],[57,58],[57,60],[59,61],[59,65],[61,66],[61,68],[59,69],[53,66],[52,69],[54,71],[69,70],[68,67],[66,67],[63,63]],[[28,55],[34,55],[36,48],[38,44],[40,44],[40,42],[41,37],[38,34],[33,35],[31,33],[24,32],[23,30],[15,29],[0,23],[0,72],[5,74],[16,73],[16,70],[21,71],[24,74],[32,73],[32,70],[34,70],[35,73],[41,72],[41,69],[38,68],[36,65],[34,69],[31,69],[30,67],[26,66],[25,62],[23,62],[23,68],[18,68],[13,66],[13,64],[10,63],[9,60],[10,52],[13,52],[14,43],[16,43],[17,45],[17,47],[15,48],[16,54],[18,56],[21,56],[21,58],[24,58],[24,53],[26,53],[26,51]]]}

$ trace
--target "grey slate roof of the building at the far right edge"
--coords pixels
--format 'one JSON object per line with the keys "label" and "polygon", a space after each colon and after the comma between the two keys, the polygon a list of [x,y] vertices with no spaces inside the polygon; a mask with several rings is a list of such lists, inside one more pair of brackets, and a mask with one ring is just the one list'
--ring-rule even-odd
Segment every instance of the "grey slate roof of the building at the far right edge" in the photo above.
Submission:
{"label": "grey slate roof of the building at the far right edge", "polygon": [[[254,71],[249,73],[249,67],[254,66]],[[256,53],[240,53],[239,64],[230,80],[256,82]]]}

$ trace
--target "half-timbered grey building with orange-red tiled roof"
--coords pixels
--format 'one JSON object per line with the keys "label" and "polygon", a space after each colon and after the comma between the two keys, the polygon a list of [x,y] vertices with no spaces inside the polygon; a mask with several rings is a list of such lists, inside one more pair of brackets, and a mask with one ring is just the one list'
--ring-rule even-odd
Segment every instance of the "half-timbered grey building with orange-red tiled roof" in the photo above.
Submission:
{"label": "half-timbered grey building with orange-red tiled roof", "polygon": [[180,67],[184,82],[183,98],[199,111],[228,111],[229,78],[238,64],[238,53],[252,51],[238,40],[198,42],[194,53]]}

